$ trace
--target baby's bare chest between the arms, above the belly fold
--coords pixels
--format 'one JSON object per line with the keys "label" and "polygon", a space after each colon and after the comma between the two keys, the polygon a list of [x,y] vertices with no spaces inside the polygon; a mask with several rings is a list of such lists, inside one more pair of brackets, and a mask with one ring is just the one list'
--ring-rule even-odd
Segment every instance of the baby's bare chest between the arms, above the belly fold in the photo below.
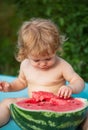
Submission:
{"label": "baby's bare chest between the arms, above the belly fold", "polygon": [[59,69],[36,70],[31,68],[25,71],[25,76],[29,83],[41,85],[53,85],[63,80],[62,73]]}

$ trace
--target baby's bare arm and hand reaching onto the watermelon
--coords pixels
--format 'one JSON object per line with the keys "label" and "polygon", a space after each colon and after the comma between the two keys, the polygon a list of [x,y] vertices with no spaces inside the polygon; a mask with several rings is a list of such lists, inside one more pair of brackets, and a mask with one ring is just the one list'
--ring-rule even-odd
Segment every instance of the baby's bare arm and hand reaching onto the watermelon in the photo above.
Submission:
{"label": "baby's bare arm and hand reaching onto the watermelon", "polygon": [[71,65],[65,61],[62,65],[62,74],[69,84],[59,89],[59,96],[70,97],[72,93],[79,93],[84,89],[83,79],[73,70]]}

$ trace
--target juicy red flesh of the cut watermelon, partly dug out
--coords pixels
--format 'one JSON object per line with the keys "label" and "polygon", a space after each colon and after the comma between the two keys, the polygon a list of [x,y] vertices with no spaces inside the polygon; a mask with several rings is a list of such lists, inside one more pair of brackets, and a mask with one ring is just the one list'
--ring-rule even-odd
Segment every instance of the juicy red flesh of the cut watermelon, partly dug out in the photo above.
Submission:
{"label": "juicy red flesh of the cut watermelon, partly dug out", "polygon": [[32,98],[17,102],[17,105],[29,110],[49,110],[55,112],[66,112],[83,108],[81,98],[63,99],[49,92],[33,92]]}

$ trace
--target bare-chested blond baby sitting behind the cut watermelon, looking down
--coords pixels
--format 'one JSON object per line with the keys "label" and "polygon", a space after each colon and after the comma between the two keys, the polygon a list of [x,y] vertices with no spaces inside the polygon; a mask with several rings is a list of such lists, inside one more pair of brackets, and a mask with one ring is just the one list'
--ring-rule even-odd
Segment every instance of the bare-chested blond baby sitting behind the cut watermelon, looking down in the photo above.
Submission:
{"label": "bare-chested blond baby sitting behind the cut watermelon, looking down", "polygon": [[[11,83],[0,82],[0,91],[12,92],[28,87],[29,97],[33,91],[47,91],[63,98],[81,92],[83,79],[56,55],[61,42],[58,28],[52,21],[37,18],[24,22],[18,34],[19,75]],[[9,121],[10,104],[23,98],[5,99],[0,103],[0,126]]]}

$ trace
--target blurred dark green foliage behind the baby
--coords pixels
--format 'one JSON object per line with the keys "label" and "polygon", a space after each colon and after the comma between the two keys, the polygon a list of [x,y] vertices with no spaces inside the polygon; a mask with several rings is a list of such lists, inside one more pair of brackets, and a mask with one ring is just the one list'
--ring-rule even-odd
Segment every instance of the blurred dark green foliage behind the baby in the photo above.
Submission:
{"label": "blurred dark green foliage behind the baby", "polygon": [[1,0],[0,73],[17,75],[14,58],[17,31],[23,21],[33,17],[54,21],[67,41],[58,54],[88,81],[88,1],[87,0]]}

